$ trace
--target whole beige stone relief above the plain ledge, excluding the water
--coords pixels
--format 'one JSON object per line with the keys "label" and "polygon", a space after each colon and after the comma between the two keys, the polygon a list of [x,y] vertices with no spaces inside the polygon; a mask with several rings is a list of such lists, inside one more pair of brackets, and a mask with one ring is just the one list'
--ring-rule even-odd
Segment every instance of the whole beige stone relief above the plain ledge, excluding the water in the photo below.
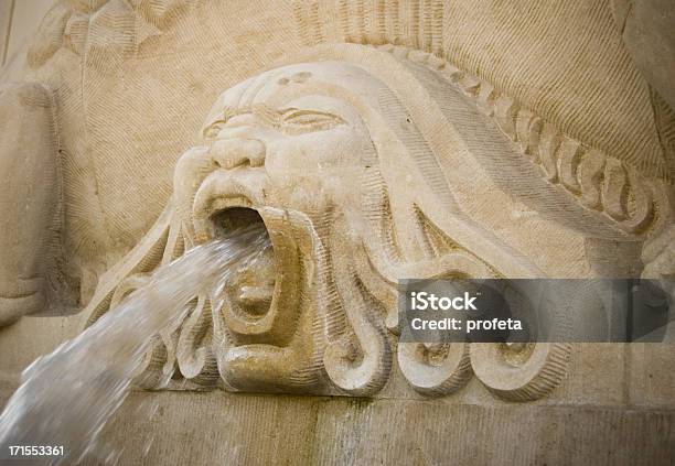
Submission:
{"label": "whole beige stone relief above the plain ledge, excluding the water", "polygon": [[672,79],[611,4],[55,1],[0,88],[0,326],[90,325],[258,223],[267,256],[138,384],[549,394],[571,345],[399,343],[397,283],[675,277]]}

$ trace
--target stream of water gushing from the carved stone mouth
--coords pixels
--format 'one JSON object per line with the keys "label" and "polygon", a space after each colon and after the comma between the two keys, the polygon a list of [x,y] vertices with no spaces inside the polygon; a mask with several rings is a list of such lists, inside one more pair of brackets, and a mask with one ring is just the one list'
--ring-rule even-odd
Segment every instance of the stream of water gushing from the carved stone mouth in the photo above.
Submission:
{"label": "stream of water gushing from the carved stone mouth", "polygon": [[79,460],[127,397],[152,337],[180,325],[197,294],[222,296],[234,271],[253,264],[269,247],[261,226],[196,247],[159,268],[76,338],[36,359],[0,415],[0,459],[10,458],[13,445],[63,445],[63,456],[31,459],[45,465]]}

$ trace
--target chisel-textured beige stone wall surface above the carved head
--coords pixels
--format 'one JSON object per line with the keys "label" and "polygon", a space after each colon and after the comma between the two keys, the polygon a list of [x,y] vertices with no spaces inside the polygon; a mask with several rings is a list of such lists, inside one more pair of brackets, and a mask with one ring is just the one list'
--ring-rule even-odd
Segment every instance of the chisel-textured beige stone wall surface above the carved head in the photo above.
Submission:
{"label": "chisel-textured beige stone wall surface above the carved head", "polygon": [[[360,14],[357,2],[342,10],[331,1],[55,7],[29,54],[40,65],[29,76],[51,86],[62,102],[69,180],[64,247],[72,273],[85,269],[95,280],[150,228],[171,192],[175,161],[217,95],[317,42],[432,51],[570,137],[647,174],[667,173],[672,153],[660,147],[649,88],[604,2],[385,3],[382,25],[371,3],[362,12],[368,21],[347,20],[344,14]],[[223,18],[235,17],[245,20],[223,26]],[[493,33],[471,32],[484,30]],[[501,44],[500,61],[490,41]],[[129,171],[139,176],[126,185]]]}

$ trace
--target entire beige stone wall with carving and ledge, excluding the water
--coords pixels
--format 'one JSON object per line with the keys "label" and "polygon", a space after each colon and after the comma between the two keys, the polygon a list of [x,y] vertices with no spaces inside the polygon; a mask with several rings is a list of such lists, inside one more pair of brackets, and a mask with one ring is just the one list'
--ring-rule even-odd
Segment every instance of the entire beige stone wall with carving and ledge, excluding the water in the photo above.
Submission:
{"label": "entire beige stone wall with carving and ledge, excluding the water", "polygon": [[[85,308],[0,327],[0,397],[146,273],[262,223],[272,252],[153,348],[170,391],[106,429],[122,464],[672,463],[675,346],[400,344],[395,288],[675,277],[668,12],[54,2],[0,75],[0,319]],[[18,278],[58,293],[17,306],[43,286]]]}

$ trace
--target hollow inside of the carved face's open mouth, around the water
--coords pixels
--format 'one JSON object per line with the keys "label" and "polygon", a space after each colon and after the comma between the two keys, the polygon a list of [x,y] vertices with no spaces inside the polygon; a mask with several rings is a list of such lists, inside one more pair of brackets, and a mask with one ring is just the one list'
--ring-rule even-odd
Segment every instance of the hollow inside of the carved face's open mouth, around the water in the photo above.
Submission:
{"label": "hollow inside of the carved face's open mouth, around the water", "polygon": [[258,228],[270,243],[256,260],[242,264],[225,285],[227,299],[245,319],[257,319],[269,311],[275,292],[277,267],[269,231],[260,214],[248,207],[228,207],[210,217],[216,237]]}

